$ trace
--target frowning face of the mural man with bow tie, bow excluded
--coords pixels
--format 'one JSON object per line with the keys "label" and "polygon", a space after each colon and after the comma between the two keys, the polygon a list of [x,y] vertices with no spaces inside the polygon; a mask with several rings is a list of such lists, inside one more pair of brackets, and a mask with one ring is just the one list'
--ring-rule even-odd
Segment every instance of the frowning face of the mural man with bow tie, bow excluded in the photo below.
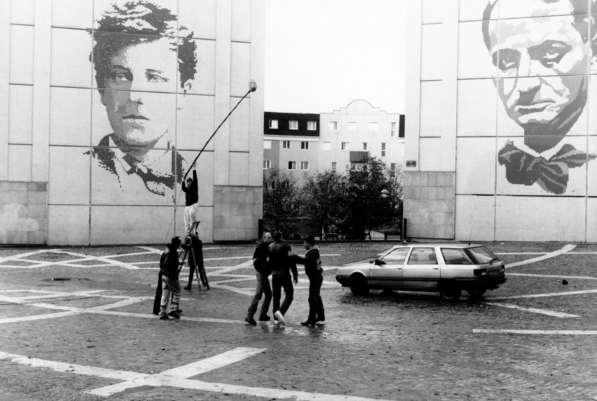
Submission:
{"label": "frowning face of the mural man with bow tie, bow excluded", "polygon": [[565,134],[586,104],[590,59],[570,2],[499,0],[498,5],[528,16],[541,8],[546,15],[489,23],[490,54],[503,78],[496,79],[496,87],[507,114],[525,128],[525,135]]}

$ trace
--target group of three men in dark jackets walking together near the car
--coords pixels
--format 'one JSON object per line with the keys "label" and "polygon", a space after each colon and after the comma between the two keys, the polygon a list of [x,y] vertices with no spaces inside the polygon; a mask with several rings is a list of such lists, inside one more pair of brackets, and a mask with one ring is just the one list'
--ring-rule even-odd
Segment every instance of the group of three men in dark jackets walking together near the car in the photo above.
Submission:
{"label": "group of three men in dark jackets walking together near the car", "polygon": [[[298,283],[297,264],[304,265],[304,271],[309,277],[309,316],[301,322],[303,326],[322,325],[325,322],[324,304],[321,300],[321,283],[323,282],[323,270],[319,248],[315,245],[315,237],[309,235],[304,240],[304,248],[307,250],[303,257],[292,252],[290,245],[284,242],[282,233],[275,231],[263,233],[263,242],[257,246],[253,254],[253,266],[257,271],[257,289],[249,308],[245,322],[250,325],[257,325],[254,314],[257,313],[257,305],[261,297],[265,295],[261,303],[259,320],[261,322],[270,320],[267,316],[270,302],[273,300],[274,323],[285,324],[284,315],[293,302],[294,284]],[[290,274],[292,273],[292,278]],[[272,275],[270,287],[269,275]],[[280,304],[284,289],[284,301]]]}

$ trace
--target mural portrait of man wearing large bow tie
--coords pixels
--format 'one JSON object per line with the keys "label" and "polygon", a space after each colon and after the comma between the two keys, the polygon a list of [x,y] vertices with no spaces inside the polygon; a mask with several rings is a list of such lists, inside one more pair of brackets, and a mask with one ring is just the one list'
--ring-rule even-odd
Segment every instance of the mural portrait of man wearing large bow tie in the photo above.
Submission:
{"label": "mural portrait of man wearing large bow tie", "polygon": [[568,194],[571,176],[584,177],[597,157],[581,150],[586,130],[571,131],[581,115],[586,119],[589,66],[597,55],[589,9],[595,2],[491,0],[485,8],[482,33],[496,66],[494,83],[506,114],[524,130],[498,152],[510,184]]}

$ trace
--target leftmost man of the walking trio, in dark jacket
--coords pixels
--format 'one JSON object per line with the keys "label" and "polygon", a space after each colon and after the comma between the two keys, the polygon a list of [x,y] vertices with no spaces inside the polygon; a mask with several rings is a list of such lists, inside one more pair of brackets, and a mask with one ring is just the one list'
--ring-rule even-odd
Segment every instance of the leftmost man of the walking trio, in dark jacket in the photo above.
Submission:
{"label": "leftmost man of the walking trio, in dark jacket", "polygon": [[247,317],[245,317],[245,322],[250,325],[257,325],[253,315],[257,312],[257,304],[259,304],[261,295],[263,294],[265,294],[265,298],[261,304],[259,320],[261,322],[266,322],[270,319],[270,317],[267,316],[267,310],[269,309],[269,304],[272,302],[272,287],[269,286],[269,278],[267,278],[271,273],[269,262],[267,261],[267,247],[269,247],[269,244],[272,242],[272,234],[270,232],[264,232],[262,238],[263,242],[257,246],[253,253],[253,267],[257,270],[257,289],[255,290],[253,301],[251,301],[251,305],[249,305]]}

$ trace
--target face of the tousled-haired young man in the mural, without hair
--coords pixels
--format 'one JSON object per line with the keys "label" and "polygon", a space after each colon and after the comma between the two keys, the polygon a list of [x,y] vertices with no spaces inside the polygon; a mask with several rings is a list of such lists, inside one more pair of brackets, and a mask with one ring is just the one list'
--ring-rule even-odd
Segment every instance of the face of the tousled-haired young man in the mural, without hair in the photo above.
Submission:
{"label": "face of the tousled-haired young man in the mural, without hair", "polygon": [[101,103],[120,146],[152,148],[174,132],[164,93],[177,81],[177,55],[171,39],[124,47],[109,59]]}

